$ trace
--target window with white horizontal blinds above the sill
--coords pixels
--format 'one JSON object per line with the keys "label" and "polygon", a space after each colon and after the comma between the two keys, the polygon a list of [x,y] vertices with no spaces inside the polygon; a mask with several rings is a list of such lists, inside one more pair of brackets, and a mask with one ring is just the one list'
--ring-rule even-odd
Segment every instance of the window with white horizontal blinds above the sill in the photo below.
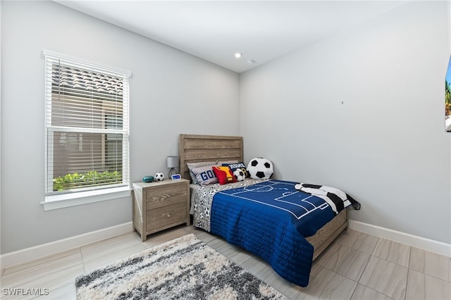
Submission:
{"label": "window with white horizontal blinds above the sill", "polygon": [[130,191],[131,74],[49,52],[44,56],[45,203]]}

